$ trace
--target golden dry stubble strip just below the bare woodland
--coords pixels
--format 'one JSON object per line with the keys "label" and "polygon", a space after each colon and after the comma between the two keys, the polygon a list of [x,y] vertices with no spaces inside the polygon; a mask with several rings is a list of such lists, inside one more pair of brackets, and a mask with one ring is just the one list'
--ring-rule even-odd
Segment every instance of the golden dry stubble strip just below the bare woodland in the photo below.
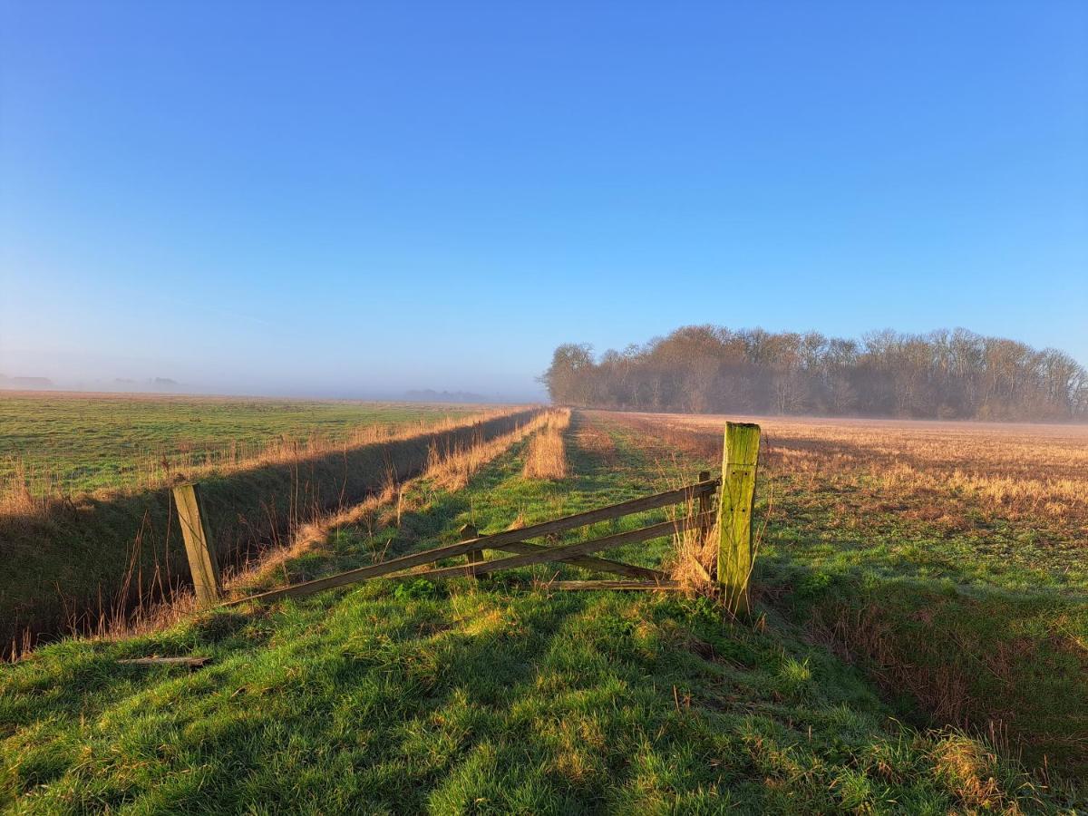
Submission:
{"label": "golden dry stubble strip just below the bare woodland", "polygon": [[[669,444],[720,456],[726,417],[619,416]],[[840,483],[855,498],[913,499],[910,511],[930,521],[954,523],[967,502],[1009,520],[1044,519],[1064,529],[1063,537],[1088,533],[1088,425],[751,421],[764,430],[768,475],[808,479],[813,486]]]}

